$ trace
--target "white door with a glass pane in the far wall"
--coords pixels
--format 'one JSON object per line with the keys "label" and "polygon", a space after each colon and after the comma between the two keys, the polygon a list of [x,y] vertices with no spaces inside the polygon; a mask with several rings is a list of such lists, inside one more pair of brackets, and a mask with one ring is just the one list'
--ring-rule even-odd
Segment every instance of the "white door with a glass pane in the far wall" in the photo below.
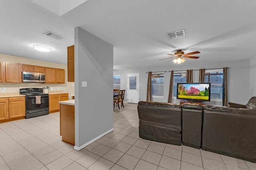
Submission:
{"label": "white door with a glass pane in the far wall", "polygon": [[139,102],[139,73],[127,74],[127,102]]}

